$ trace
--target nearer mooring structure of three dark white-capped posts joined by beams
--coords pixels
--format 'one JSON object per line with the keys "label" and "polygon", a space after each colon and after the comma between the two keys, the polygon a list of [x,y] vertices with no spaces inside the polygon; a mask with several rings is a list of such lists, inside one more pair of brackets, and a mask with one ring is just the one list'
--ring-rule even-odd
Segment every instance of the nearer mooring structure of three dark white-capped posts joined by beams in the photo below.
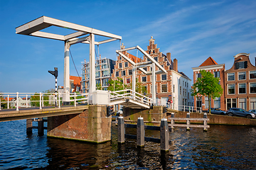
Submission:
{"label": "nearer mooring structure of three dark white-capped posts joined by beams", "polygon": [[[128,135],[125,134],[125,128],[137,128],[137,135]],[[145,137],[145,130],[158,130],[160,131],[160,139],[154,137]],[[145,141],[156,142],[161,144],[161,150],[169,150],[169,126],[167,119],[161,119],[161,124],[159,126],[149,126],[144,125],[143,118],[138,118],[137,125],[133,124],[124,124],[124,118],[119,117],[117,121],[117,142],[123,143],[124,137],[129,139],[137,140],[137,146],[144,147]]]}

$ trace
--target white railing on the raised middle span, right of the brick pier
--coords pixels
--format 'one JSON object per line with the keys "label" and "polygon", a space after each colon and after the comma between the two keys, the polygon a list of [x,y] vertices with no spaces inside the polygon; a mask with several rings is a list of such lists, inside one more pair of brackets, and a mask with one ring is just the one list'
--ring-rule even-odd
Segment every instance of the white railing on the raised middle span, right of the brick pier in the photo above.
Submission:
{"label": "white railing on the raised middle span, right of the brick pier", "polygon": [[125,89],[121,91],[110,91],[110,103],[112,101],[119,100],[119,99],[124,99],[124,100],[132,99],[134,101],[138,101],[146,105],[151,105],[151,103],[153,103],[152,98],[139,94],[136,91],[132,91],[132,89]]}

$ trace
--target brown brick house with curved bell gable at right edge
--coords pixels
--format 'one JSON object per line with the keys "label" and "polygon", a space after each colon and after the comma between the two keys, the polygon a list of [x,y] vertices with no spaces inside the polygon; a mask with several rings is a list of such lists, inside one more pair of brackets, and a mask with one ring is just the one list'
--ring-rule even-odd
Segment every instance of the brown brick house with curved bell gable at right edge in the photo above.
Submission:
{"label": "brown brick house with curved bell gable at right edge", "polygon": [[[250,54],[234,56],[233,67],[225,72],[225,108],[256,108],[256,67],[252,65]],[[256,64],[256,58],[255,58]]]}

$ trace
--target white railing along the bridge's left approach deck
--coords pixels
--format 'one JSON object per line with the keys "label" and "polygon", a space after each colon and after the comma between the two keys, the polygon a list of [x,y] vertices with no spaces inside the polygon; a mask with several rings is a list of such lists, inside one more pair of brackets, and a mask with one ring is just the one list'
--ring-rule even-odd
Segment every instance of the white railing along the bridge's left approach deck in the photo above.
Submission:
{"label": "white railing along the bridge's left approach deck", "polygon": [[[42,109],[46,106],[57,106],[60,108],[63,104],[63,93],[1,93],[0,111],[2,108],[32,108]],[[32,99],[33,98],[33,99]],[[88,104],[89,94],[70,93],[70,103],[74,106],[81,103]]]}

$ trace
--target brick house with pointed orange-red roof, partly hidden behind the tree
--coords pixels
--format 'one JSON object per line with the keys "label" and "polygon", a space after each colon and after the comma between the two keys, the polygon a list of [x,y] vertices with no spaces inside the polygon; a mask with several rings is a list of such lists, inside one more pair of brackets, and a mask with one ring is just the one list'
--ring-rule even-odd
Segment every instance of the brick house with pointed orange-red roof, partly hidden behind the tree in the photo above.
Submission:
{"label": "brick house with pointed orange-red roof, partly hidden behind the tree", "polygon": [[[193,83],[196,82],[198,77],[201,77],[200,70],[204,69],[207,72],[211,72],[214,77],[218,77],[220,79],[220,86],[225,89],[225,64],[218,64],[213,60],[212,57],[208,57],[206,61],[204,61],[199,67],[193,67]],[[225,91],[225,90],[224,90]],[[223,95],[220,98],[210,98],[210,106],[211,108],[220,108],[220,110],[225,111],[225,98]],[[202,107],[202,111],[208,111],[208,100],[207,96],[193,96],[195,107]]]}

